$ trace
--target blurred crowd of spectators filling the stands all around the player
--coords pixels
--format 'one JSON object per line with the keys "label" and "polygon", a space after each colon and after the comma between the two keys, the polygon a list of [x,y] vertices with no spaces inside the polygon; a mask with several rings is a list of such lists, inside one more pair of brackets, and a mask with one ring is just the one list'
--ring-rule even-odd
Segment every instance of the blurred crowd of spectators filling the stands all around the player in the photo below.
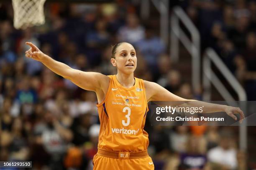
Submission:
{"label": "blurred crowd of spectators filling the stands all around the player", "polygon": [[[179,5],[200,30],[203,49],[213,47],[250,92],[249,100],[255,99],[256,2],[184,0]],[[0,161],[31,160],[38,170],[91,170],[97,153],[95,93],[26,58],[27,41],[75,69],[105,75],[116,74],[111,45],[130,42],[138,57],[136,77],[202,99],[170,60],[159,37],[159,14],[153,9],[144,21],[139,10],[139,2],[128,0],[46,3],[46,24],[15,30],[12,4],[0,5]],[[147,121],[145,128],[156,170],[248,169],[247,154],[238,150],[237,127],[159,127]]]}

